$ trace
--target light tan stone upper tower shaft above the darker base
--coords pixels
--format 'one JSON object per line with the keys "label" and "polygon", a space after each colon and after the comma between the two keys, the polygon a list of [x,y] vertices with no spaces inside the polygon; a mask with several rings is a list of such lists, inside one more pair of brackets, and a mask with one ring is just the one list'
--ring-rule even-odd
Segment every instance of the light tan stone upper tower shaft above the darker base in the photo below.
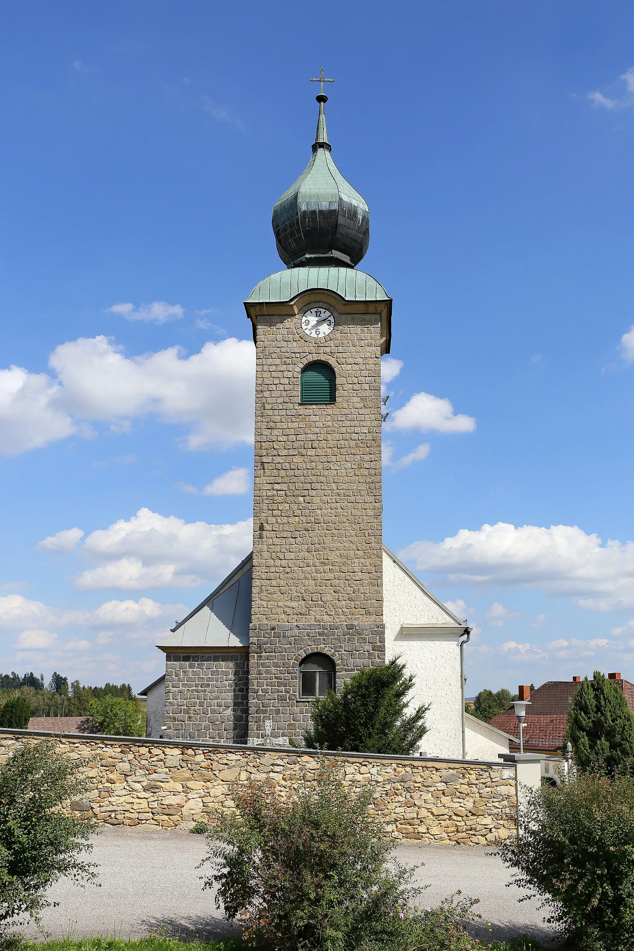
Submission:
{"label": "light tan stone upper tower shaft above the darker base", "polygon": [[[254,624],[383,622],[380,318],[323,294],[258,318]],[[300,321],[319,305],[336,325],[311,340]],[[299,402],[315,360],[335,370],[335,403]]]}

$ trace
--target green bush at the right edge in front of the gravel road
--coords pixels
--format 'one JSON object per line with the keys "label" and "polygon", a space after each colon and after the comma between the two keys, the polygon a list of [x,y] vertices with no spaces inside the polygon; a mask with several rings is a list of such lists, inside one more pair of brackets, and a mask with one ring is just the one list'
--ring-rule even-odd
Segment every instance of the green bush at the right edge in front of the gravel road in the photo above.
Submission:
{"label": "green bush at the right edge in front of the gravel road", "polygon": [[579,948],[634,947],[634,782],[580,774],[529,794],[519,834],[500,847],[513,882],[550,904]]}

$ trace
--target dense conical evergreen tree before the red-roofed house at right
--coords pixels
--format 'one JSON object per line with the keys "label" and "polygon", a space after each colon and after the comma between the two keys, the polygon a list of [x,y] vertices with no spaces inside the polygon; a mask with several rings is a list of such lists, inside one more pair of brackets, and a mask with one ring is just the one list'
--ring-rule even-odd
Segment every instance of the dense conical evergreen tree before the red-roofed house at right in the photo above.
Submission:
{"label": "dense conical evergreen tree before the red-roofed house at right", "polygon": [[570,704],[568,735],[582,772],[615,774],[634,763],[634,718],[622,691],[600,670],[582,681]]}

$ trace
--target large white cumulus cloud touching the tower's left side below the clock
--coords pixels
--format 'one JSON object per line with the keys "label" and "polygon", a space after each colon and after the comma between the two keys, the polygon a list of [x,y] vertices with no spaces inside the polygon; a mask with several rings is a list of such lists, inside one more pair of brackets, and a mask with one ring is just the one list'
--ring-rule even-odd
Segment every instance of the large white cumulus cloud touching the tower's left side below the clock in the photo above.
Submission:
{"label": "large white cumulus cloud touching the tower's left side below the clock", "polygon": [[0,452],[7,456],[72,434],[93,436],[91,422],[114,434],[153,415],[186,427],[189,450],[253,442],[255,348],[249,340],[207,341],[185,357],[179,347],[126,357],[107,337],[56,347],[55,372],[0,370]]}

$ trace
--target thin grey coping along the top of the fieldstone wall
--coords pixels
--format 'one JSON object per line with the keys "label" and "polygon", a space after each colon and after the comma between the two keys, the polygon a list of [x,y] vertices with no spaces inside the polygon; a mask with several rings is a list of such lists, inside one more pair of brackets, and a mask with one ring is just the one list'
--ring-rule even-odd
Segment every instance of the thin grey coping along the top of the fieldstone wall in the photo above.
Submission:
{"label": "thin grey coping along the top of the fieldstone wall", "polygon": [[106,740],[109,743],[127,743],[134,746],[145,744],[148,747],[204,747],[205,749],[237,749],[241,753],[283,753],[285,756],[345,756],[348,758],[358,757],[360,760],[389,760],[405,761],[407,763],[457,763],[462,766],[471,767],[504,767],[515,768],[517,764],[501,763],[500,760],[458,760],[445,756],[397,756],[392,753],[354,753],[344,749],[310,749],[309,747],[260,747],[248,746],[246,743],[209,743],[205,740],[158,740],[151,736],[112,736],[109,733],[60,733],[54,730],[46,729],[14,729],[10,727],[0,727],[1,735],[17,736],[50,736],[59,737],[62,740],[81,740],[82,742],[95,743],[100,740]]}

